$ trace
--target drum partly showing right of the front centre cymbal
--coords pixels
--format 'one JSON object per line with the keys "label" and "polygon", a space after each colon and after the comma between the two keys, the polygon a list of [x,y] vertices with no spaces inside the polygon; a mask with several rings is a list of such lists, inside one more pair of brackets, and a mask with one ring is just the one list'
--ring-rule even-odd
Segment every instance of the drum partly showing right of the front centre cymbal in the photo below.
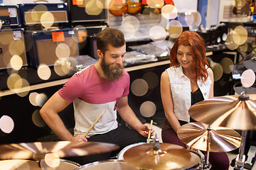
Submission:
{"label": "drum partly showing right of the front centre cymbal", "polygon": [[184,166],[184,169],[186,170],[201,170],[203,169],[203,159],[201,157],[201,154],[199,154],[196,151],[193,151],[191,149],[188,149],[188,151],[191,154],[190,162]]}

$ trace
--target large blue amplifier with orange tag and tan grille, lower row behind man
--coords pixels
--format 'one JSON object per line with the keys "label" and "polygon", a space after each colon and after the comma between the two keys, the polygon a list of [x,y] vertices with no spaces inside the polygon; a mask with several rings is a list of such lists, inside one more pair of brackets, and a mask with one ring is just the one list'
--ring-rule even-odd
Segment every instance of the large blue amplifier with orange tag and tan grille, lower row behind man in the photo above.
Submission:
{"label": "large blue amplifier with orange tag and tan grille, lower row behind man", "polygon": [[59,59],[80,55],[80,42],[87,36],[85,30],[65,28],[60,30],[26,30],[26,47],[29,64],[53,66]]}

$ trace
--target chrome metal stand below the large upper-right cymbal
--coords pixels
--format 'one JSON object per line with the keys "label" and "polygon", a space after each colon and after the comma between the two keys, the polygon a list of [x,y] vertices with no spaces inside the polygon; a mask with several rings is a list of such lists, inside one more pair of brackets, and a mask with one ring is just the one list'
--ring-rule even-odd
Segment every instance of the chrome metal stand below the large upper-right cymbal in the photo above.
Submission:
{"label": "chrome metal stand below the large upper-right cymbal", "polygon": [[242,170],[245,164],[245,140],[247,136],[247,130],[242,131],[242,137],[241,137],[241,145],[239,149],[239,154],[235,159],[235,166],[234,169]]}

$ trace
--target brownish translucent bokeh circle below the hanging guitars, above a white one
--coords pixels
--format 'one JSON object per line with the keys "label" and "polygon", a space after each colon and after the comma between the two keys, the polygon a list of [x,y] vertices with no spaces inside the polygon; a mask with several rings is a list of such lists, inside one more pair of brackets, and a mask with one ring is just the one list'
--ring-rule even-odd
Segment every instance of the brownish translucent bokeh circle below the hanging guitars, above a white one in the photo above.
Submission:
{"label": "brownish translucent bokeh circle below the hanging guitars, above a white one", "polygon": [[157,23],[159,23],[161,18],[161,13],[159,13],[158,10],[155,10],[154,8],[144,8],[142,11],[142,21],[147,26],[155,26]]}

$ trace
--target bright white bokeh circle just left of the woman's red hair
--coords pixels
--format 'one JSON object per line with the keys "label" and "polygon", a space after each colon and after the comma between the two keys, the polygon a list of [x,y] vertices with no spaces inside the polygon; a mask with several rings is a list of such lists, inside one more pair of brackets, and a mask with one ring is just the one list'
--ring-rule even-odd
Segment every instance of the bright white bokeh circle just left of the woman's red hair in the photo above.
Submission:
{"label": "bright white bokeh circle just left of the woman's red hair", "polygon": [[161,26],[154,26],[149,30],[149,38],[154,42],[161,42],[166,39],[166,30]]}

